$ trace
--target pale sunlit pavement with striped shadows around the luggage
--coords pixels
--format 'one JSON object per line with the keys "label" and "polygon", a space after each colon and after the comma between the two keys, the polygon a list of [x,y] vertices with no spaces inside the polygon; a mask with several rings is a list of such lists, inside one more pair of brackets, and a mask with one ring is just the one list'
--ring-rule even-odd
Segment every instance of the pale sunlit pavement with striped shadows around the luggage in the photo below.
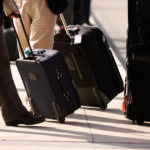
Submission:
{"label": "pale sunlit pavement with striped shadows around the luggage", "polygon": [[[124,79],[127,0],[92,0],[91,22],[104,30]],[[23,101],[25,90],[14,62],[11,69]],[[83,106],[65,124],[47,120],[35,126],[6,127],[0,118],[0,150],[150,149],[150,123],[138,126],[125,119],[122,97],[119,94],[105,112]]]}

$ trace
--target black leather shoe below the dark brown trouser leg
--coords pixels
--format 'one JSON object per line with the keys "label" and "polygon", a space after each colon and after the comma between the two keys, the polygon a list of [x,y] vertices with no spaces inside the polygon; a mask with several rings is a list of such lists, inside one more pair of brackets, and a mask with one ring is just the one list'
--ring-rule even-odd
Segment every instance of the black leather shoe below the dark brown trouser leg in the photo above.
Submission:
{"label": "black leather shoe below the dark brown trouser leg", "polygon": [[44,121],[45,118],[43,116],[33,116],[31,113],[27,112],[18,119],[7,122],[6,126],[17,126],[18,124],[33,125]]}

